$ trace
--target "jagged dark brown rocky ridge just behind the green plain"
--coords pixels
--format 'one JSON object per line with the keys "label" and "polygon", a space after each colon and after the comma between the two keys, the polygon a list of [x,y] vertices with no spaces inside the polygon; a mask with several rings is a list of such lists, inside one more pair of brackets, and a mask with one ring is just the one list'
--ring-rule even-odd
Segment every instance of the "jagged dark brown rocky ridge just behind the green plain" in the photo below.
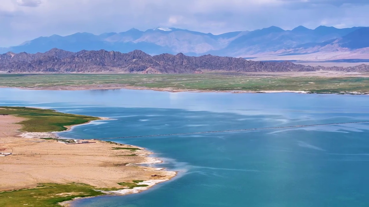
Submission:
{"label": "jagged dark brown rocky ridge just behind the green plain", "polygon": [[288,72],[288,71],[369,71],[368,65],[350,68],[311,67],[291,62],[260,62],[235,57],[186,56],[168,53],[151,56],[141,50],[128,53],[106,50],[68,52],[51,49],[45,53],[0,55],[1,73],[203,73],[204,71]]}

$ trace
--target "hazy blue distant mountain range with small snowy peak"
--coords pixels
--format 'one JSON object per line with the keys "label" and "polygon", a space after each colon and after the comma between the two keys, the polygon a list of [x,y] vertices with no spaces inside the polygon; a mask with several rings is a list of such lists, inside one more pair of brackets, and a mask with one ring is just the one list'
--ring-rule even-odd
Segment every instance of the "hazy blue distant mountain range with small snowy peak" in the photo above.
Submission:
{"label": "hazy blue distant mountain range with small snowy peak", "polygon": [[[177,28],[156,28],[146,31],[130,29],[126,32],[110,32],[101,35],[76,33],[68,36],[39,37],[21,45],[0,48],[6,52],[46,52],[59,48],[72,52],[80,50],[108,50],[127,53],[142,50],[150,55],[161,53],[201,56],[260,57],[317,54],[343,54],[354,58],[369,59],[369,27],[338,29],[320,26],[308,29],[303,26],[292,30],[279,27],[255,31],[228,32],[220,35]],[[345,56],[346,54],[346,56]],[[322,56],[323,57],[323,56]],[[328,55],[330,59],[334,55]]]}

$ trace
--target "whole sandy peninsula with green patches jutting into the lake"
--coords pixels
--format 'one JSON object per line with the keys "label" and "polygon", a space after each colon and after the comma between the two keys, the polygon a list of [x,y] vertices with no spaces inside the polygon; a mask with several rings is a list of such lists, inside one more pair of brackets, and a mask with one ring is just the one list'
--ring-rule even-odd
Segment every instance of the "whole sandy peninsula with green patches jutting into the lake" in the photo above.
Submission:
{"label": "whole sandy peninsula with green patches jutting into the lake", "polygon": [[77,197],[127,194],[175,176],[141,166],[160,162],[151,152],[99,140],[66,140],[50,131],[67,130],[99,117],[49,109],[0,107],[0,206],[51,206]]}

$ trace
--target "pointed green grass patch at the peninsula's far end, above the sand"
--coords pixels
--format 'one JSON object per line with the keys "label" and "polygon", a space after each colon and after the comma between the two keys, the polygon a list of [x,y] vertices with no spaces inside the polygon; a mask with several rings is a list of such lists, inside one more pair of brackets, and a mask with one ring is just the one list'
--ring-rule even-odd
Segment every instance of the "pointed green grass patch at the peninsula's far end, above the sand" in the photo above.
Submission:
{"label": "pointed green grass patch at the peninsula's far end, above the sand", "polygon": [[98,117],[56,112],[51,109],[0,106],[0,114],[17,115],[27,120],[20,122],[28,132],[64,131],[65,126],[83,124]]}

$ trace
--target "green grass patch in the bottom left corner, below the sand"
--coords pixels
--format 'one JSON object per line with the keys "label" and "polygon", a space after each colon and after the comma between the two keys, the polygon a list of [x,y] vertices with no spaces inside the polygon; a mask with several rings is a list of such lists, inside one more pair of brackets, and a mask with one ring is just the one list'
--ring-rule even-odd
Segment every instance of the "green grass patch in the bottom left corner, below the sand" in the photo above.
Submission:
{"label": "green grass patch in the bottom left corner, below the sand", "polygon": [[0,192],[1,207],[60,207],[58,203],[72,200],[76,197],[99,196],[104,193],[96,191],[93,186],[71,183],[42,183],[34,189]]}

